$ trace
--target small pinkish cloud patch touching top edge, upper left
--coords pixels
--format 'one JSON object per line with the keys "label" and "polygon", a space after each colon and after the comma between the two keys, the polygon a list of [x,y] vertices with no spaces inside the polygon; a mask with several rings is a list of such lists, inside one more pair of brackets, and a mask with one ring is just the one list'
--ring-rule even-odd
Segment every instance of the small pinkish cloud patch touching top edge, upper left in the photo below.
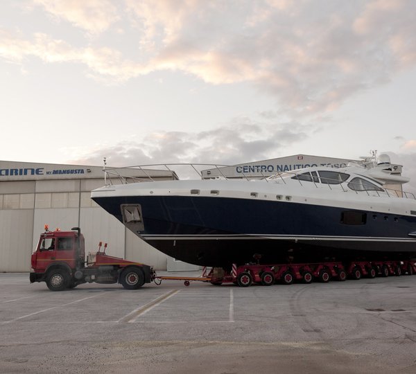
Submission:
{"label": "small pinkish cloud patch touching top edge, upper left", "polygon": [[53,17],[92,34],[102,33],[120,19],[116,6],[108,0],[33,0],[33,3]]}

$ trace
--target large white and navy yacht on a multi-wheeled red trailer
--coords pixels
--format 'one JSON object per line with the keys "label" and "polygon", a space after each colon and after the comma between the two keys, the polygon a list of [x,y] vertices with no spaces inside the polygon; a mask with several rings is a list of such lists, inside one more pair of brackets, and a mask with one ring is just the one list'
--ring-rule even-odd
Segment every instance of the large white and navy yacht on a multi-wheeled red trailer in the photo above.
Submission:
{"label": "large white and navy yacht on a multi-wheeled red trailer", "polygon": [[[92,199],[141,239],[201,266],[416,256],[416,199],[387,155],[262,179],[108,185]],[[390,186],[395,185],[395,188]]]}

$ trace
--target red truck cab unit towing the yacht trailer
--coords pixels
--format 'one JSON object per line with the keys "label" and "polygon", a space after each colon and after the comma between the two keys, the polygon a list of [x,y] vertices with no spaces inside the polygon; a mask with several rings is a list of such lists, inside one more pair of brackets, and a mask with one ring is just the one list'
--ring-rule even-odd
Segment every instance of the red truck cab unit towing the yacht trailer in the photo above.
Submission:
{"label": "red truck cab unit towing the yacht trailer", "polygon": [[155,272],[139,262],[108,256],[101,244],[98,251],[89,253],[85,261],[84,235],[79,227],[72,231],[49,231],[40,234],[36,251],[31,258],[30,281],[46,282],[49,290],[62,291],[82,283],[121,283],[127,290],[153,281]]}

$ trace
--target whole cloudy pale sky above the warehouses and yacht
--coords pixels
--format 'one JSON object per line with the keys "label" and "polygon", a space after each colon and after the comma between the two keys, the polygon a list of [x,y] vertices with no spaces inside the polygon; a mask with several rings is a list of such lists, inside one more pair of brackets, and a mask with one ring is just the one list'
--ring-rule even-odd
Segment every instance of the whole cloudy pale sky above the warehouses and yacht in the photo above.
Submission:
{"label": "whole cloudy pale sky above the warehouses and yacht", "polygon": [[388,152],[416,186],[416,1],[1,0],[0,160]]}

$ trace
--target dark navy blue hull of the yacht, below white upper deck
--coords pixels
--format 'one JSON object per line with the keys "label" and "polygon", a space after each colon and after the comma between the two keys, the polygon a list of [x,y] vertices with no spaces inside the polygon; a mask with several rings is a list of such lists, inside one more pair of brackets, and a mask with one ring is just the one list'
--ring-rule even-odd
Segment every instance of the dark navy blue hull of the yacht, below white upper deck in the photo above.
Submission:
{"label": "dark navy blue hull of the yacht, below white upper deck", "polygon": [[205,266],[232,262],[416,256],[416,217],[348,208],[227,197],[95,197],[123,222],[121,204],[140,204],[136,232],[169,256]]}

